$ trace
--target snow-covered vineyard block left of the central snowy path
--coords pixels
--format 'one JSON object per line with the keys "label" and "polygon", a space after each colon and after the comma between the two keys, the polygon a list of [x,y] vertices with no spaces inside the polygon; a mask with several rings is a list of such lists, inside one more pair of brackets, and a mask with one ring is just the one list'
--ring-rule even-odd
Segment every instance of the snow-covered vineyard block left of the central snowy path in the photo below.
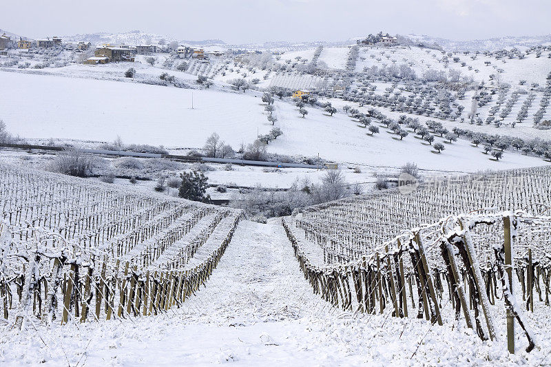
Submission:
{"label": "snow-covered vineyard block left of the central snowy path", "polygon": [[0,167],[3,317],[65,324],[152,315],[218,264],[240,211]]}

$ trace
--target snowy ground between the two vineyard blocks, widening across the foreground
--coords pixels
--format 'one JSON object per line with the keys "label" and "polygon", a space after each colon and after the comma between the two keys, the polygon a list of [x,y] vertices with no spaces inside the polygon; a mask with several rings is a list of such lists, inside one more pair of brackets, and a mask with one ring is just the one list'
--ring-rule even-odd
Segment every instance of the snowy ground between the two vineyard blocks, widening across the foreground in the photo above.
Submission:
{"label": "snowy ground between the two vineyard blocks, widening across the foreground", "polygon": [[453,320],[439,327],[335,309],[304,280],[280,220],[242,221],[207,286],[180,309],[0,338],[5,366],[536,366],[549,352],[546,344],[510,356]]}

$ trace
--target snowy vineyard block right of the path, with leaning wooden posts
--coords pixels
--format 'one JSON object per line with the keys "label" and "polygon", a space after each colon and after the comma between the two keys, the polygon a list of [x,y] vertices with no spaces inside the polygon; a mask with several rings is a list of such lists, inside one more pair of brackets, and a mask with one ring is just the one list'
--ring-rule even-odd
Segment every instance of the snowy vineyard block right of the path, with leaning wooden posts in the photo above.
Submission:
{"label": "snowy vineyard block right of the path, with leaning wooden posts", "polygon": [[439,325],[464,317],[481,339],[530,352],[546,330],[533,331],[525,310],[550,305],[550,179],[547,167],[464,176],[306,208],[283,223],[327,302]]}

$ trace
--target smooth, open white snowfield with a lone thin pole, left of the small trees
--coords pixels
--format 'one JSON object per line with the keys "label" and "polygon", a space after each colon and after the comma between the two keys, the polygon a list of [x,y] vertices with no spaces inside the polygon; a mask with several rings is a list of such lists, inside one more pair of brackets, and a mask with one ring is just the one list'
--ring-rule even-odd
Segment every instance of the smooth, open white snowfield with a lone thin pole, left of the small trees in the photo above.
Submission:
{"label": "smooth, open white snowfield with a lone thin pole, left of the small trees", "polygon": [[128,142],[197,147],[216,131],[238,145],[254,140],[265,119],[258,101],[209,90],[0,74],[1,118],[28,138],[111,141],[119,135]]}

